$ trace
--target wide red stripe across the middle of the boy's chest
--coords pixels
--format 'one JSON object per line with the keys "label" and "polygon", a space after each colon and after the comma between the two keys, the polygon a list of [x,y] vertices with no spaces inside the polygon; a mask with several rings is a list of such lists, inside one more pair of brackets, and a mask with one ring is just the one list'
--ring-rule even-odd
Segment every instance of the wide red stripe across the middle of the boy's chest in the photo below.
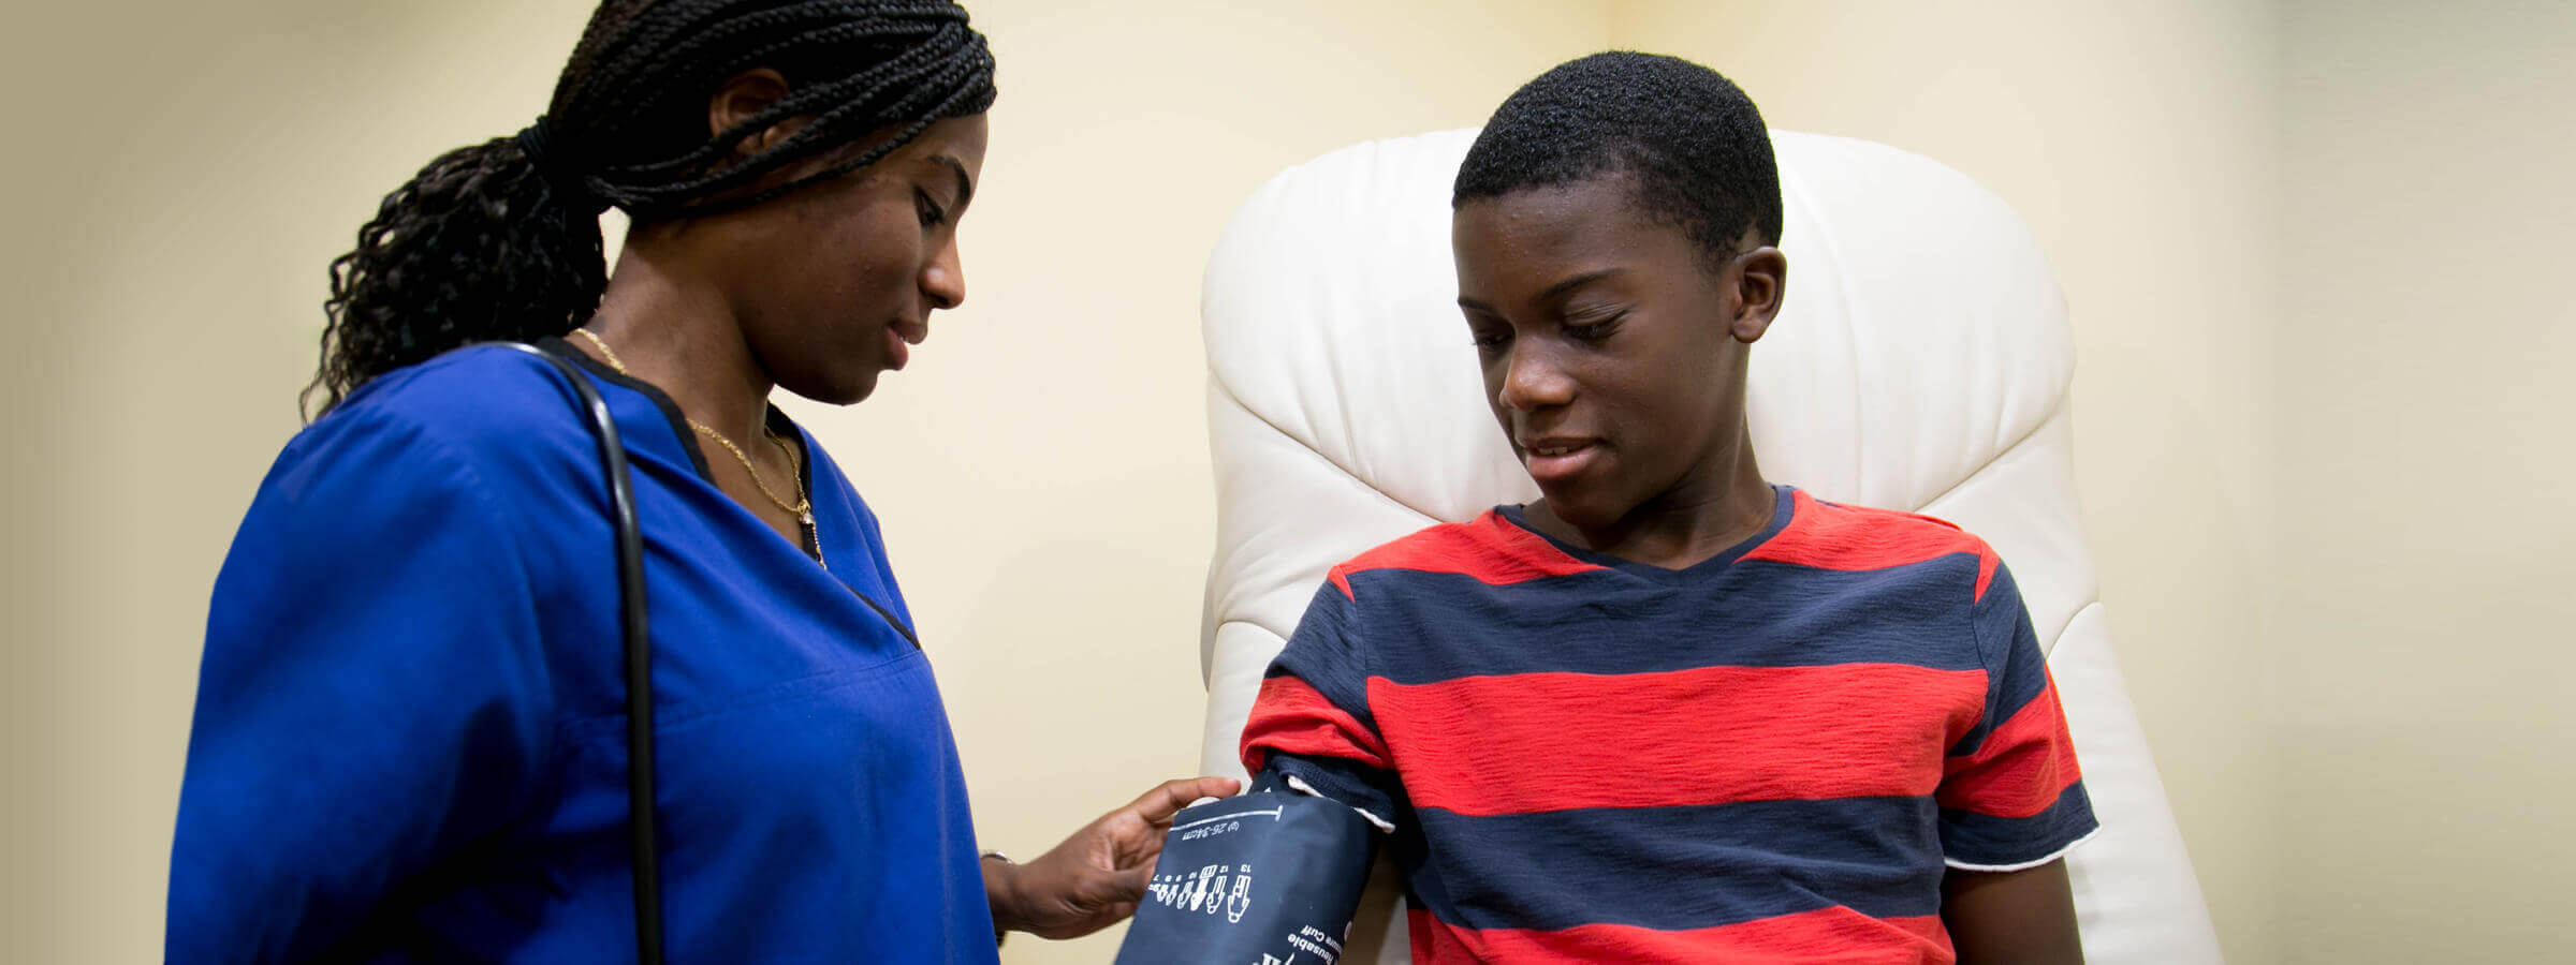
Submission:
{"label": "wide red stripe across the middle of the boy's chest", "polygon": [[1929,795],[1986,672],[1911,664],[1368,679],[1414,805],[1455,813]]}

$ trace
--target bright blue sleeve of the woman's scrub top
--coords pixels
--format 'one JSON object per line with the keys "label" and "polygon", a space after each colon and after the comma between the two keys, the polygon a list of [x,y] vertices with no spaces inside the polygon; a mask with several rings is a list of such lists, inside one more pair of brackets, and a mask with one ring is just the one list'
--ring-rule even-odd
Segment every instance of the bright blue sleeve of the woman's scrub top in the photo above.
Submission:
{"label": "bright blue sleeve of the woman's scrub top", "polygon": [[325,955],[528,808],[554,703],[502,512],[392,414],[332,414],[278,455],[214,584],[167,960]]}

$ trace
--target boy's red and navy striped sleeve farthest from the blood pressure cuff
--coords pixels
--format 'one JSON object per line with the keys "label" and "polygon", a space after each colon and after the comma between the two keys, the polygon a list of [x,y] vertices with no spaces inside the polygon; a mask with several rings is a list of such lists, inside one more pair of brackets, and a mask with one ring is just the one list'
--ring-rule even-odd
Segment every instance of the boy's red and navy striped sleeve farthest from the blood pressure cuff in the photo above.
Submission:
{"label": "boy's red and navy striped sleeve farthest from the blood pressure cuff", "polygon": [[2040,636],[2002,564],[1976,597],[1971,623],[1986,664],[1986,710],[1942,769],[1942,859],[1986,872],[2048,865],[2099,823]]}

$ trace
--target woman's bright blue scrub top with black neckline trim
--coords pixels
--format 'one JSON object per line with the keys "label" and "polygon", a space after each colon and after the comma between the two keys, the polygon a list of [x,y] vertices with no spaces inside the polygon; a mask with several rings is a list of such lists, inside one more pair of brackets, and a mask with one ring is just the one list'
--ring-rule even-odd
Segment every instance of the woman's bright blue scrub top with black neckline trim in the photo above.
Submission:
{"label": "woman's bright blue scrub top with black neckline trim", "polygon": [[[811,453],[817,566],[667,396],[585,371],[644,520],[670,960],[994,962],[866,502],[773,412]],[[296,435],[214,584],[167,957],[631,962],[616,615],[605,476],[544,360],[448,353]]]}

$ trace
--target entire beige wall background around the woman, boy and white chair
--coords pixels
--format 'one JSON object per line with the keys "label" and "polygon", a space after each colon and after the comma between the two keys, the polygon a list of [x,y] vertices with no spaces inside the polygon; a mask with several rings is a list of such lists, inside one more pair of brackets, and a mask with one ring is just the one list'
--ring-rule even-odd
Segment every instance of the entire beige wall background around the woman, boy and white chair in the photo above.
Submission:
{"label": "entire beige wall background around the woman, boy and white chair", "polygon": [[[974,10],[1002,103],[969,304],[871,404],[799,414],[886,517],[987,844],[1043,849],[1195,759],[1195,299],[1231,206],[1618,44],[1945,160],[2038,229],[2115,638],[2239,962],[2540,955],[2576,857],[2563,5]],[[52,5],[0,41],[13,955],[157,957],[206,589],[296,427],[322,265],[428,157],[526,124],[585,13]]]}

